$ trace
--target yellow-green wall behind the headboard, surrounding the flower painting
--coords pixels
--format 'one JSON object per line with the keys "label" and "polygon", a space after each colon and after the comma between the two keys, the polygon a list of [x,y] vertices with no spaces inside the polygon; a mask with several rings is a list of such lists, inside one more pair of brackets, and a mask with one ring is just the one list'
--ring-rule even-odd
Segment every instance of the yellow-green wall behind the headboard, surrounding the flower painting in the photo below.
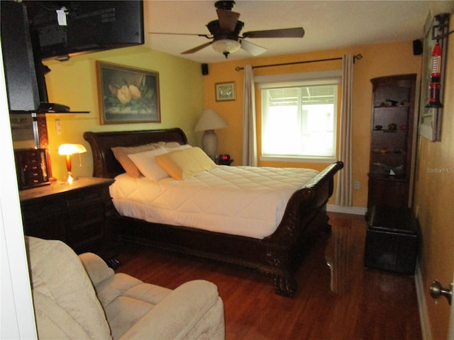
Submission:
{"label": "yellow-green wall behind the headboard, surrounding the flower painting", "polygon": [[[96,60],[159,72],[161,123],[100,125]],[[66,174],[65,160],[57,154],[62,143],[80,143],[87,147],[88,152],[81,155],[82,167],[79,167],[79,157],[73,157],[72,172],[75,176],[92,175],[92,152],[82,137],[84,131],[179,127],[189,143],[196,145],[199,136],[194,135],[192,129],[204,109],[204,81],[199,63],[145,47],[126,47],[45,64],[52,70],[46,75],[49,101],[70,106],[72,111],[91,111],[89,114],[46,115],[52,175],[56,179],[62,180]],[[55,120],[60,120],[61,135],[57,135]]]}

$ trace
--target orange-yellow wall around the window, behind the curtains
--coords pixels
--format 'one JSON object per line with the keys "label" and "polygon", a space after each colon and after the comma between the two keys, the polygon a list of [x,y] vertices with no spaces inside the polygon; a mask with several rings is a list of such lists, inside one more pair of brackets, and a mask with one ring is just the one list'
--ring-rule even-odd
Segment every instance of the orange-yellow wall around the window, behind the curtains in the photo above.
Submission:
{"label": "orange-yellow wall around the window, behind the curtains", "polygon": [[[219,137],[219,153],[231,154],[234,165],[241,163],[241,140],[243,121],[243,71],[237,72],[236,67],[245,64],[253,66],[278,64],[304,60],[319,60],[342,57],[345,53],[360,53],[362,60],[355,63],[353,80],[353,181],[360,181],[360,189],[353,191],[353,206],[367,206],[367,171],[369,170],[370,117],[372,102],[372,85],[370,79],[391,74],[420,73],[421,57],[413,55],[413,42],[398,42],[381,45],[356,46],[342,50],[325,50],[297,55],[277,57],[255,57],[250,60],[221,62],[209,64],[209,75],[205,76],[205,106],[213,108],[229,124],[228,128],[217,130]],[[323,71],[341,69],[342,61],[295,64],[282,67],[254,69],[255,76]],[[215,84],[219,82],[236,82],[236,101],[216,101]],[[256,106],[258,106],[258,134],[260,134],[260,94],[256,89]],[[258,141],[260,147],[260,141]],[[260,149],[259,149],[260,154]],[[323,169],[326,164],[305,164],[285,162],[260,162],[260,166],[301,166]],[[333,195],[335,197],[335,195]],[[331,198],[330,203],[333,203]]]}

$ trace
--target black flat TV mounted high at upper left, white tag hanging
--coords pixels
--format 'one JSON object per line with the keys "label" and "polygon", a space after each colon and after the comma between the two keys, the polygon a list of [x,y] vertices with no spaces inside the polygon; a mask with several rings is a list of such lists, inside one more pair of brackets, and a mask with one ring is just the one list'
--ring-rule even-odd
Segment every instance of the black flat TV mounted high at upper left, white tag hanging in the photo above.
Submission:
{"label": "black flat TV mounted high at upper left, white tag hanging", "polygon": [[141,45],[143,1],[24,1],[43,60]]}

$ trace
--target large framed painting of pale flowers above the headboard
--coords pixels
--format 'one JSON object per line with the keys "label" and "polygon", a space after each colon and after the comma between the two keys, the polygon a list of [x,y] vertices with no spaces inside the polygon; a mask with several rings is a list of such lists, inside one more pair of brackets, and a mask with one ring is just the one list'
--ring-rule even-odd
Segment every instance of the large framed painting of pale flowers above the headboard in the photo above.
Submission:
{"label": "large framed painting of pale flowers above the headboard", "polygon": [[160,123],[159,73],[96,62],[101,125]]}

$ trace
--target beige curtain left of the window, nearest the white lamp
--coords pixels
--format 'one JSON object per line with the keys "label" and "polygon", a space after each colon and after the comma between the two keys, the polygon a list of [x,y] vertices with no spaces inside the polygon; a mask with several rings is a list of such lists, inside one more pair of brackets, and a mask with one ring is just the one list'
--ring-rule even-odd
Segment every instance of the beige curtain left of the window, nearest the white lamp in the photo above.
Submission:
{"label": "beige curtain left of the window, nearest the white lamp", "polygon": [[257,166],[254,72],[251,65],[244,67],[243,98],[243,159],[241,161],[242,165]]}

